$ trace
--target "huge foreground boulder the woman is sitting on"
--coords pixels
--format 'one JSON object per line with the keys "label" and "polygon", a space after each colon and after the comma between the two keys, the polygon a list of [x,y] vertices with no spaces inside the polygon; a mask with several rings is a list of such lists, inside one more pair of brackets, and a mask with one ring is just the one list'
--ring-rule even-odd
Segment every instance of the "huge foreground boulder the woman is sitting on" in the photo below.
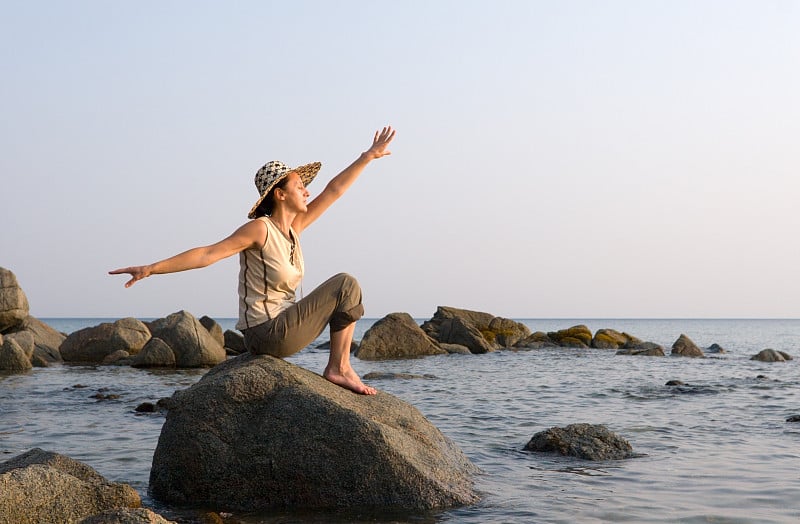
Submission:
{"label": "huge foreground boulder the woman is sitting on", "polygon": [[247,354],[173,395],[150,492],[218,510],[421,510],[476,502],[475,471],[402,400],[357,395],[281,359]]}

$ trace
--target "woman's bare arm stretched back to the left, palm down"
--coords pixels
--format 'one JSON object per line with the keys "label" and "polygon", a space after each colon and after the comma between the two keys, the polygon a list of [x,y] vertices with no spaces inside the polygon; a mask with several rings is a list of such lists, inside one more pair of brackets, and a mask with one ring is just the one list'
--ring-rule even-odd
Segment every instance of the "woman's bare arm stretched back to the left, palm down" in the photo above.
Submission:
{"label": "woman's bare arm stretched back to the left, palm down", "polygon": [[210,246],[196,247],[178,255],[144,266],[130,266],[109,271],[109,275],[128,274],[131,279],[125,287],[131,287],[150,275],[177,273],[198,269],[235,255],[245,249],[262,246],[267,238],[267,226],[261,220],[246,223],[227,238]]}

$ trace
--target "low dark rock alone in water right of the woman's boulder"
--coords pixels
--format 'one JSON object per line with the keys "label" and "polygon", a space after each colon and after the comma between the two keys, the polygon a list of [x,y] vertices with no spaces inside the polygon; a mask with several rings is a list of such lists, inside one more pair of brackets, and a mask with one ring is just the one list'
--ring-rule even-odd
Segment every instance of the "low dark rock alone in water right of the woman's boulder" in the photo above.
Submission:
{"label": "low dark rock alone in water right of the woman's boulder", "polygon": [[531,438],[525,449],[586,460],[619,460],[633,455],[627,440],[599,424],[570,424],[541,431]]}

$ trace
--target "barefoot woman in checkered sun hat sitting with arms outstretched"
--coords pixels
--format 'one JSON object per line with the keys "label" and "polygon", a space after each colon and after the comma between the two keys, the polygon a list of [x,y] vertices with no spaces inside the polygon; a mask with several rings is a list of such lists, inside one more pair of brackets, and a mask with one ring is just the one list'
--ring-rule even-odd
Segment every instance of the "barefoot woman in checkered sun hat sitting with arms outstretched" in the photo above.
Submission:
{"label": "barefoot woman in checkered sun hat sitting with arms outstretched", "polygon": [[109,273],[131,275],[125,284],[130,287],[150,275],[201,268],[239,253],[236,328],[244,334],[245,346],[256,354],[283,358],[314,341],[328,324],[331,351],[323,376],[356,393],[374,395],[375,388],[361,382],[350,365],[355,323],[364,314],[358,282],[340,273],[299,301],[295,289],[304,271],[300,234],[344,194],[367,164],[391,154],[386,148],[394,135],[388,126],[376,131],[372,146],[311,202],[306,186],[319,172],[319,162],[294,169],[268,162],[256,173],[259,199],[248,214],[251,220],[229,237],[160,262]]}

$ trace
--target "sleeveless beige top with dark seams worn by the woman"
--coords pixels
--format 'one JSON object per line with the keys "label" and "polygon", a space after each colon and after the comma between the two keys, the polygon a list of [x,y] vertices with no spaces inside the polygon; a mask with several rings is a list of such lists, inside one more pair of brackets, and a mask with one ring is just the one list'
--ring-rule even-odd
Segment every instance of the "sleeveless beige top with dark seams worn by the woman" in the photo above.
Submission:
{"label": "sleeveless beige top with dark seams worn by the woman", "polygon": [[268,217],[267,240],[261,249],[239,253],[239,321],[242,330],[275,318],[295,302],[295,290],[303,278],[303,252],[293,229],[292,240]]}

